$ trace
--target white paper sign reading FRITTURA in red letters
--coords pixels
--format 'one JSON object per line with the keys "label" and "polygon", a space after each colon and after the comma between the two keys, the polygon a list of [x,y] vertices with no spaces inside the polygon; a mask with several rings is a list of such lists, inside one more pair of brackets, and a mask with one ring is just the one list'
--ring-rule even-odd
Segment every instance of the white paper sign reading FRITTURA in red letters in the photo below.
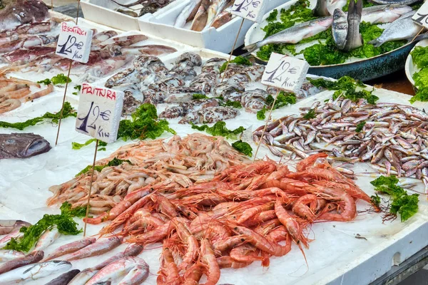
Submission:
{"label": "white paper sign reading FRITTURA in red letters", "polygon": [[115,142],[124,93],[83,83],[78,101],[76,131],[103,142]]}

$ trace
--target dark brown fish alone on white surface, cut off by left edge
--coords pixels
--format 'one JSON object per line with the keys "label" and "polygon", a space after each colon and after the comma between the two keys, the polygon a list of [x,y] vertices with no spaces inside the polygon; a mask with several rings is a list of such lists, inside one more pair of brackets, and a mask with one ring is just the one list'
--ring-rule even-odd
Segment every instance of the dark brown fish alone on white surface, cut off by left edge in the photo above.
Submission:
{"label": "dark brown fish alone on white surface, cut off by left edge", "polygon": [[50,149],[49,142],[34,133],[0,134],[0,160],[32,157]]}

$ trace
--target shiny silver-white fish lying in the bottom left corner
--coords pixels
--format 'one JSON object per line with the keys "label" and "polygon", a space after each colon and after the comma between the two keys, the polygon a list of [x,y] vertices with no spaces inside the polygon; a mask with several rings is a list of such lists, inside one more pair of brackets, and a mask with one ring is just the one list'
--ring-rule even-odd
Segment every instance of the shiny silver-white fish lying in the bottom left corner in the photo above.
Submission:
{"label": "shiny silver-white fish lying in the bottom left corner", "polygon": [[63,272],[71,268],[68,261],[52,260],[42,263],[29,264],[0,274],[0,284],[15,284],[21,281],[36,280],[54,273]]}

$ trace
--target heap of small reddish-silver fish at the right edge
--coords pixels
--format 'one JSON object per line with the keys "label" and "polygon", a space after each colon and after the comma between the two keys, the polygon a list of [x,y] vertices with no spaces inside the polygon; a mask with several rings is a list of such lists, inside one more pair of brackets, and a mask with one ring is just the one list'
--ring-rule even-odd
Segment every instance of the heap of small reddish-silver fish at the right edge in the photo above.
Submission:
{"label": "heap of small reddish-silver fish at the right edge", "polygon": [[[355,103],[342,97],[324,104],[316,101],[300,110],[300,115],[287,115],[267,125],[263,143],[272,154],[281,156],[287,150],[292,157],[305,158],[330,151],[348,162],[370,162],[387,175],[422,179],[428,187],[428,114],[424,110],[395,103],[371,105],[362,99]],[[309,110],[315,118],[303,118]],[[263,127],[253,133],[255,142],[260,142]],[[329,145],[334,148],[326,149]]]}

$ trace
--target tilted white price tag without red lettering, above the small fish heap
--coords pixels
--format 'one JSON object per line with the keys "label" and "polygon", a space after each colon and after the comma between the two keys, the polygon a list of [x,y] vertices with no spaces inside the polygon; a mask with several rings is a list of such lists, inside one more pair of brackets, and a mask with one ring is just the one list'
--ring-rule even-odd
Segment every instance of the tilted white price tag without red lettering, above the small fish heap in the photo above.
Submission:
{"label": "tilted white price tag without red lettering, above the small fish heap", "polygon": [[302,87],[309,64],[298,58],[272,53],[262,76],[262,83],[292,93]]}

